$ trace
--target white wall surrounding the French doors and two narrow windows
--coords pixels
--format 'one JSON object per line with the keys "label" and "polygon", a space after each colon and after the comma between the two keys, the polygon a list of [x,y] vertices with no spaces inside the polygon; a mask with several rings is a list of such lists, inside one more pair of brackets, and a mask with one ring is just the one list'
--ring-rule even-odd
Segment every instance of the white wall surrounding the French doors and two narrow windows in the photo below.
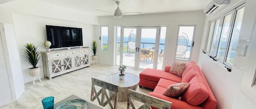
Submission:
{"label": "white wall surrounding the French doors and two narrow windows", "polygon": [[[163,14],[148,14],[148,15],[134,15],[123,16],[121,18],[114,18],[113,16],[99,17],[100,25],[109,26],[109,51],[99,53],[99,62],[113,66],[114,65],[114,26],[115,25],[159,25],[167,26],[165,52],[164,52],[164,66],[171,65],[175,59],[175,47],[178,34],[178,25],[196,25],[194,41],[195,45],[192,53],[192,60],[198,61],[198,54],[200,52],[201,36],[203,33],[205,21],[205,14],[203,11],[191,12],[172,12]],[[96,27],[98,29],[99,27]],[[96,31],[96,39],[99,41],[99,30]]]}

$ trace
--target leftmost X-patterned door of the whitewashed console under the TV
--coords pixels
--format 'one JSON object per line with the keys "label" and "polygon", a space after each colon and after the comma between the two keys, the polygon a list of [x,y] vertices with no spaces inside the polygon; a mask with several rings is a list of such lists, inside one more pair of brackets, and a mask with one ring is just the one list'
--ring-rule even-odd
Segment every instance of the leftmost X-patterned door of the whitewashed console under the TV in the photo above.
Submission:
{"label": "leftmost X-patterned door of the whitewashed console under the TV", "polygon": [[62,73],[62,59],[51,60],[51,75],[58,75]]}

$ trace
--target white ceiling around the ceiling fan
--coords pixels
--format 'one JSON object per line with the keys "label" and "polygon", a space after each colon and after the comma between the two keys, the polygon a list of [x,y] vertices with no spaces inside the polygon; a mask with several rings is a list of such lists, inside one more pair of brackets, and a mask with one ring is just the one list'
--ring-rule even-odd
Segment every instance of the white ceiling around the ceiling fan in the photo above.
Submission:
{"label": "white ceiling around the ceiling fan", "polygon": [[[66,7],[96,16],[113,15],[117,5],[115,0],[40,0],[60,7]],[[211,0],[120,0],[122,12],[152,14],[203,10]],[[105,10],[110,12],[103,12]]]}

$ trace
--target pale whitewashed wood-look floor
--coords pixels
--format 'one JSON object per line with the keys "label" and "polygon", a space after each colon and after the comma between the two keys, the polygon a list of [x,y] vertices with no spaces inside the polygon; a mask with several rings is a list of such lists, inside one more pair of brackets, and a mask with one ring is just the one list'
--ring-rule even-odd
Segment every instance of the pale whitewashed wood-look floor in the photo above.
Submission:
{"label": "pale whitewashed wood-look floor", "polygon": [[[41,82],[36,81],[35,85],[32,82],[28,82],[25,84],[25,92],[19,100],[2,106],[0,109],[43,109],[41,99],[48,96],[55,97],[55,102],[73,94],[82,99],[90,100],[91,78],[105,80],[107,75],[117,73],[117,68],[95,65],[57,76],[52,80],[42,79]],[[139,76],[141,70],[127,69],[126,72]],[[137,91],[142,93],[151,92],[151,90],[145,88],[138,88]],[[127,102],[118,102],[118,109],[124,109],[126,106]]]}

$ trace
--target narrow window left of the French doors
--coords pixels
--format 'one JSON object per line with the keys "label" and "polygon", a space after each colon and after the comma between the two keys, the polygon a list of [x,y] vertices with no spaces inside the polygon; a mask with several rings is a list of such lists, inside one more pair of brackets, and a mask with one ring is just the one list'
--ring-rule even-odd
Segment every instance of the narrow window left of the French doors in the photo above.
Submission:
{"label": "narrow window left of the French doors", "polygon": [[100,50],[109,50],[109,27],[100,27]]}

